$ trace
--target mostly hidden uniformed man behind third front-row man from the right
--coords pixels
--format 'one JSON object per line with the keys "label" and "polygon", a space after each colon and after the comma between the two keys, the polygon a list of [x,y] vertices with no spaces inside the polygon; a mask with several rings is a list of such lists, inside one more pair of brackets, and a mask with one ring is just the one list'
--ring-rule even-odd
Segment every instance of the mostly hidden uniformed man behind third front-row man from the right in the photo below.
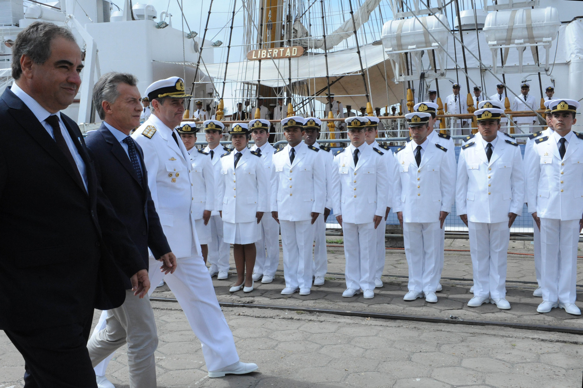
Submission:
{"label": "mostly hidden uniformed man behind third front-row man from the right", "polygon": [[[451,138],[451,136],[442,134],[439,132],[439,130],[434,130],[437,121],[436,120],[437,109],[438,109],[437,104],[431,102],[422,102],[419,104],[415,104],[415,106],[413,106],[413,110],[415,110],[416,112],[426,112],[431,114],[431,117],[429,118],[429,123],[427,124],[427,127],[429,128],[429,130],[427,131],[427,141],[429,141],[430,144],[439,144],[443,146],[444,149],[447,150],[445,151],[445,155],[447,156],[449,162],[449,168],[451,169],[451,171],[456,171],[457,162],[455,160],[454,140]],[[449,179],[451,179],[451,186],[455,187],[455,174],[451,174],[449,176]],[[455,200],[454,195],[455,192],[452,191],[452,197],[449,198],[448,203],[454,204]],[[448,213],[450,212],[451,209],[448,211]],[[444,258],[445,228],[441,228],[440,231],[441,235],[443,236],[442,239],[440,240],[439,248],[439,272],[441,273],[443,271],[443,265],[445,260]],[[440,282],[439,284],[437,284],[436,291],[441,291],[441,289],[442,287]]]}

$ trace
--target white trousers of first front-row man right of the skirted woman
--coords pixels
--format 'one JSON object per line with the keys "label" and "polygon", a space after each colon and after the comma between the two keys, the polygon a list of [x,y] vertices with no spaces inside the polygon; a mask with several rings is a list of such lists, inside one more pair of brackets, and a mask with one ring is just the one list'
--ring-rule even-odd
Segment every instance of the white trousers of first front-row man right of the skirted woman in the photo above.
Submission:
{"label": "white trousers of first front-row man right of the skirted woman", "polygon": [[314,226],[312,220],[279,220],[282,229],[283,278],[286,287],[311,288],[312,286],[312,245]]}

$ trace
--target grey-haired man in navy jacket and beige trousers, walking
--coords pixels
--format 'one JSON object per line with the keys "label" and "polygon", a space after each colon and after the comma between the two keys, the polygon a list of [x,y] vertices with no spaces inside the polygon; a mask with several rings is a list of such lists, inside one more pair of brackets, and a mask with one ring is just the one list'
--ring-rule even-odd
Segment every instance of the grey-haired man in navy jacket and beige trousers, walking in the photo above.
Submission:
{"label": "grey-haired man in navy jacket and beige trousers, walking", "polygon": [[[93,102],[101,128],[87,137],[93,153],[97,180],[111,201],[116,214],[128,228],[144,265],[148,265],[148,247],[164,261],[166,273],[174,272],[176,257],[164,236],[160,219],[147,186],[142,148],[129,136],[140,124],[138,80],[131,74],[107,73],[93,87]],[[93,365],[111,352],[128,344],[129,382],[132,388],[156,388],[154,351],[158,344],[156,323],[148,299],[131,298],[131,284],[125,280],[127,297],[116,309],[101,313],[100,323],[87,342]],[[107,319],[107,329],[106,329]],[[109,358],[107,358],[108,360]],[[97,366],[97,386],[111,388],[103,366]]]}

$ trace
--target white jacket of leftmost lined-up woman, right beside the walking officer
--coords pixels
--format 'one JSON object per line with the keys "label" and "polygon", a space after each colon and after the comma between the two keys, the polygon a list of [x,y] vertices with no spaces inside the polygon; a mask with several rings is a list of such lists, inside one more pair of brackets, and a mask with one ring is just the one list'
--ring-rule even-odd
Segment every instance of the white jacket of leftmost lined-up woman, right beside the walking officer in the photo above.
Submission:
{"label": "white jacket of leftmost lined-up woman, right beside the walking officer", "polygon": [[210,163],[210,155],[204,151],[191,149],[191,183],[195,194],[192,196],[192,217],[201,219],[205,210],[215,209],[215,167]]}

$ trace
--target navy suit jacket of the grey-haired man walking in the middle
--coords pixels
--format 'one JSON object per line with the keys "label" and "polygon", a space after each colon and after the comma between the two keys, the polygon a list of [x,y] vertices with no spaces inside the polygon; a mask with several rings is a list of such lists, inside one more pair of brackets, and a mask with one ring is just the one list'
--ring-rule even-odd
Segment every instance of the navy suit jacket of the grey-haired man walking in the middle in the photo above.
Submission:
{"label": "navy suit jacket of the grey-haired man walking in the middle", "polygon": [[[143,263],[148,265],[148,247],[156,258],[170,252],[170,246],[164,236],[150,189],[147,186],[142,147],[134,142],[142,165],[145,187],[140,184],[138,174],[124,148],[104,124],[101,124],[97,132],[87,137],[85,142],[93,154],[97,181],[103,188],[103,193],[111,201],[115,213],[128,228],[129,237],[138,248]],[[125,277],[125,287],[132,288],[127,277]]]}

